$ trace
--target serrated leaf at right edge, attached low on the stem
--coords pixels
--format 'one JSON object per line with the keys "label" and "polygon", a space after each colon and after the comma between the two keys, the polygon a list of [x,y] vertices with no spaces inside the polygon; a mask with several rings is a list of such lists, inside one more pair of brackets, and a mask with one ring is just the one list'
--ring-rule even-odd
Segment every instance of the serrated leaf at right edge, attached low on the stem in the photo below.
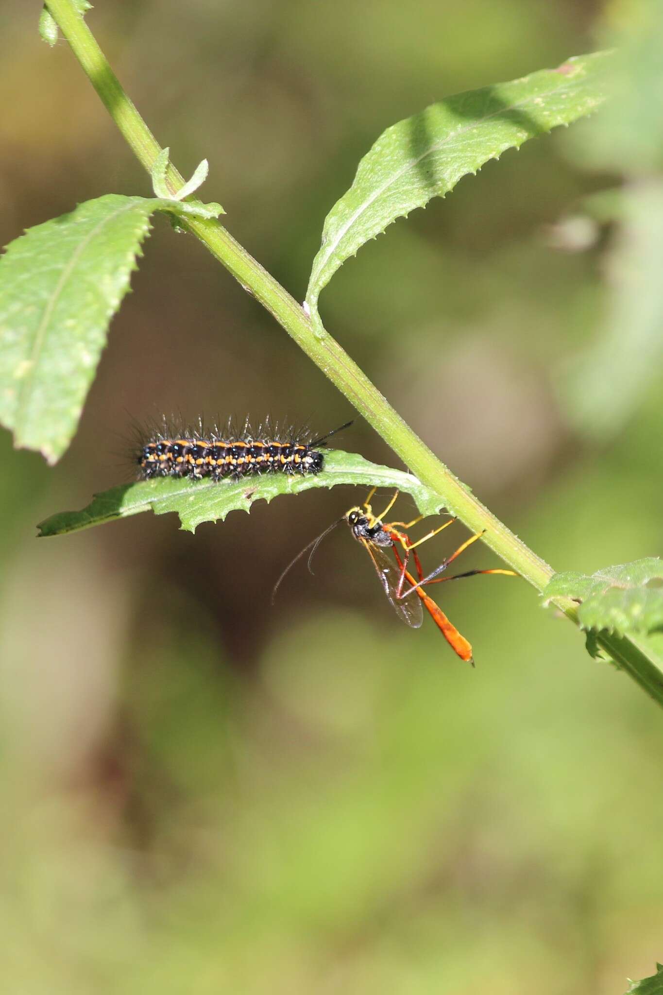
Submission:
{"label": "serrated leaf at right edge, attached low on the stem", "polygon": [[580,601],[583,629],[654,632],[663,627],[663,561],[649,556],[598,570],[590,577],[574,571],[557,573],[543,597],[546,604],[556,597]]}

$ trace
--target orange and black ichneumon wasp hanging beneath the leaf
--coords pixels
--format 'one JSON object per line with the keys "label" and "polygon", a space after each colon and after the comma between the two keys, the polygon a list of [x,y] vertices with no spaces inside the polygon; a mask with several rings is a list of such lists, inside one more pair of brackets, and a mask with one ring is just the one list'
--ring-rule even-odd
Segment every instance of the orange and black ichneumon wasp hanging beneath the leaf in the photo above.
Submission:
{"label": "orange and black ichneumon wasp hanging beneath the leaf", "polygon": [[[460,657],[461,660],[464,660],[474,666],[471,645],[467,642],[464,636],[460,635],[455,626],[449,622],[439,605],[435,604],[432,598],[425,593],[423,588],[429,584],[440,584],[447,580],[459,580],[461,577],[473,577],[481,573],[501,573],[510,577],[517,577],[518,574],[513,570],[494,568],[490,570],[466,570],[464,573],[455,573],[450,577],[439,576],[439,574],[446,570],[447,566],[449,566],[449,564],[452,563],[456,557],[460,555],[460,553],[467,549],[467,547],[473,542],[476,542],[477,539],[481,538],[483,532],[477,532],[475,535],[470,535],[468,539],[465,539],[465,541],[461,543],[461,545],[459,545],[450,556],[447,556],[446,559],[442,560],[439,566],[435,567],[431,573],[425,575],[418,556],[417,546],[420,546],[423,542],[427,542],[427,540],[431,539],[433,535],[437,535],[438,532],[441,532],[443,528],[453,524],[456,519],[450,517],[448,521],[438,525],[437,528],[431,529],[429,532],[426,532],[425,535],[422,535],[419,539],[413,542],[408,535],[408,529],[412,528],[419,521],[421,521],[423,515],[417,515],[412,521],[386,522],[384,519],[396,503],[396,500],[399,497],[399,492],[397,491],[394,494],[382,514],[376,515],[373,513],[373,508],[371,506],[371,499],[375,495],[376,490],[377,488],[373,488],[363,504],[357,504],[354,507],[349,508],[342,518],[332,522],[332,524],[329,525],[324,532],[321,532],[317,538],[313,539],[313,541],[309,542],[308,545],[301,550],[301,552],[297,553],[276,581],[272,592],[272,603],[275,598],[276,591],[286,573],[290,570],[290,567],[294,566],[294,564],[301,559],[304,553],[308,552],[310,549],[311,551],[308,557],[308,568],[310,570],[311,560],[313,559],[315,550],[319,546],[322,539],[324,539],[324,537],[328,535],[333,528],[336,528],[336,526],[342,521],[345,521],[349,525],[353,537],[358,542],[361,542],[371,557],[371,562],[373,563],[375,571],[380,578],[380,582],[383,586],[387,599],[401,621],[405,622],[406,625],[409,625],[414,629],[418,629],[423,620],[423,608],[425,608],[451,649],[457,654],[457,656]],[[388,555],[388,549],[391,549],[394,553],[394,561]],[[411,556],[414,559],[417,579],[414,579],[413,574],[408,569]],[[311,570],[311,572],[313,571]],[[410,584],[410,587],[404,590],[406,581]],[[412,597],[414,594],[416,595],[416,599]]]}

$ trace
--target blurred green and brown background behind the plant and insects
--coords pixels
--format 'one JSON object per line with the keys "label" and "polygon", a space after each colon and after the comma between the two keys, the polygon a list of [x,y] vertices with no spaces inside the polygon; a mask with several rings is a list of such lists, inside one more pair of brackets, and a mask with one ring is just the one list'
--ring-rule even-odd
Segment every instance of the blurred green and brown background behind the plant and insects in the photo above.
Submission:
{"label": "blurred green and brown background behind the plant and insects", "polygon": [[[634,82],[616,109],[463,180],[321,301],[414,429],[558,569],[663,537],[662,293],[633,262],[660,275],[655,6],[99,0],[88,15],[179,168],[209,157],[205,198],[299,299],[324,216],[384,127],[623,45]],[[0,9],[3,243],[87,198],[149,193],[38,13]],[[615,212],[583,213],[615,186]],[[3,991],[607,995],[651,974],[663,716],[524,583],[437,589],[471,671],[429,620],[398,624],[341,530],[270,606],[294,553],[364,497],[351,489],[195,536],[144,514],[35,541],[40,519],[131,479],[133,418],[271,413],[322,433],[351,415],[162,219],[132,286],[63,461],[0,439]],[[340,439],[394,463],[366,425]]]}

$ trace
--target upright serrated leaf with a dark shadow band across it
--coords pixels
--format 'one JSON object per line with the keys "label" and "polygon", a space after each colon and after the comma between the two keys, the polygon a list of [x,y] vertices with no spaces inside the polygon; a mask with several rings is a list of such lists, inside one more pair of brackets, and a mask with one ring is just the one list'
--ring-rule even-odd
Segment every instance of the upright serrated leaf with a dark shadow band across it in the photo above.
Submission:
{"label": "upright serrated leaf with a dark shadow band across it", "polygon": [[556,70],[433,103],[387,128],[325,220],[306,294],[313,314],[345,260],[397,218],[443,197],[507,148],[594,110],[604,100],[609,65],[607,53],[578,56]]}

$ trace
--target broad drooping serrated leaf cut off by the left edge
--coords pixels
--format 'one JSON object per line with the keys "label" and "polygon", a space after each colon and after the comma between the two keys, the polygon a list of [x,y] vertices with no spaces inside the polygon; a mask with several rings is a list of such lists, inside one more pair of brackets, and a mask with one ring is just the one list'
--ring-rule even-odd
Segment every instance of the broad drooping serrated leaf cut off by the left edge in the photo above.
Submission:
{"label": "broad drooping serrated leaf cut off by the left edge", "polygon": [[0,423],[55,463],[74,435],[154,211],[107,194],[29,229],[0,259]]}

